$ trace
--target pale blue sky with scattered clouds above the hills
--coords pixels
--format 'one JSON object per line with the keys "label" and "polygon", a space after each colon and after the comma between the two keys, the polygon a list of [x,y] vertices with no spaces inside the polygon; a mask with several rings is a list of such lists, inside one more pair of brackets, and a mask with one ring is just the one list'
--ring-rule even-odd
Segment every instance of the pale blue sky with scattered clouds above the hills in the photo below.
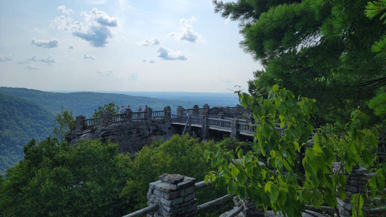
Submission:
{"label": "pale blue sky with scattered clouds above the hills", "polygon": [[0,0],[0,86],[247,90],[259,62],[211,0]]}

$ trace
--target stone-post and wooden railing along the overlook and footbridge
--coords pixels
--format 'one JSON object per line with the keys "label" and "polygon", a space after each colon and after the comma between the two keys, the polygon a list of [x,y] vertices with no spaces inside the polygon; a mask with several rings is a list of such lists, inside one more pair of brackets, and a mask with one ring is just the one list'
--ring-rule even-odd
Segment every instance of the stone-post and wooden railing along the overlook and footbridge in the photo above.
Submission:
{"label": "stone-post and wooden railing along the overlook and footbridge", "polygon": [[[239,117],[250,117],[250,111],[241,105],[234,107],[216,106],[210,108],[205,104],[202,108],[198,105],[192,108],[183,108],[178,106],[176,114],[172,114],[170,106],[164,110],[153,111],[147,107],[143,112],[132,112],[127,108],[123,114],[110,114],[105,112],[101,117],[86,119],[84,116],[77,116],[75,131],[90,130],[99,127],[107,127],[113,124],[128,122],[157,120],[165,122],[171,126],[182,126],[185,132],[200,128],[200,137],[203,140],[211,138],[210,131],[218,131],[223,134],[229,134],[230,137],[239,139],[239,135],[253,138],[256,122],[254,120],[240,119]],[[277,130],[281,130],[279,124],[275,124]]]}

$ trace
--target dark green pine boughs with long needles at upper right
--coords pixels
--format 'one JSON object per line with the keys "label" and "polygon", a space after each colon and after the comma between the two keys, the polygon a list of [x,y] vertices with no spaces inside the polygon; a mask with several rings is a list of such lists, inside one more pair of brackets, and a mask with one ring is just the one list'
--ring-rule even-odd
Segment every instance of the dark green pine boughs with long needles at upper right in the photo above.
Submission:
{"label": "dark green pine boughs with long needles at upper right", "polygon": [[[386,25],[364,14],[367,0],[214,1],[240,22],[240,45],[264,66],[249,91],[280,84],[317,99],[322,121],[341,121],[386,84],[386,56],[372,51]],[[276,80],[277,79],[277,80]],[[367,108],[367,106],[362,106]]]}

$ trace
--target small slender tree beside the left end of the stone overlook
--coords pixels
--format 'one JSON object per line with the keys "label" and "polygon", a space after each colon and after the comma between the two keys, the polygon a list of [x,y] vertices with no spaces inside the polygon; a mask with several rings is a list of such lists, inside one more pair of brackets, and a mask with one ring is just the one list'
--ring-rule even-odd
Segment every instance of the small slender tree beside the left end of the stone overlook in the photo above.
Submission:
{"label": "small slender tree beside the left end of the stone overlook", "polygon": [[70,135],[73,130],[75,130],[75,122],[72,111],[62,107],[61,112],[56,114],[52,132],[57,138],[64,139],[64,137]]}

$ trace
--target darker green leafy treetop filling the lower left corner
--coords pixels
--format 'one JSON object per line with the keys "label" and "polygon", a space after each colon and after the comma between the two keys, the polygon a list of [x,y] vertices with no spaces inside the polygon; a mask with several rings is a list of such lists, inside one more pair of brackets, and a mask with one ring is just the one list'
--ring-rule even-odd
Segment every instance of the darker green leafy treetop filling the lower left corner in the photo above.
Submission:
{"label": "darker green leafy treetop filling the lower left corner", "polygon": [[129,156],[117,144],[55,138],[24,147],[25,158],[0,182],[2,216],[122,216],[119,197]]}

